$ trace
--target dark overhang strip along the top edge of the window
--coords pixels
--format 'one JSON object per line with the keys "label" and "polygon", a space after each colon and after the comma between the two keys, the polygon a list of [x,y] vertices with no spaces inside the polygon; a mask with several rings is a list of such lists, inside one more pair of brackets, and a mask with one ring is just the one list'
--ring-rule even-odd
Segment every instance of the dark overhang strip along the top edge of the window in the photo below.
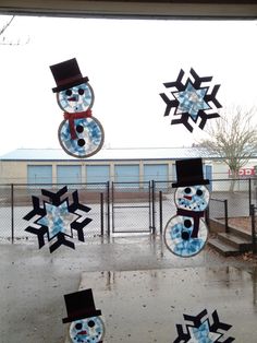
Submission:
{"label": "dark overhang strip along the top edge of the window", "polygon": [[256,19],[257,0],[1,0],[0,13],[78,17]]}

